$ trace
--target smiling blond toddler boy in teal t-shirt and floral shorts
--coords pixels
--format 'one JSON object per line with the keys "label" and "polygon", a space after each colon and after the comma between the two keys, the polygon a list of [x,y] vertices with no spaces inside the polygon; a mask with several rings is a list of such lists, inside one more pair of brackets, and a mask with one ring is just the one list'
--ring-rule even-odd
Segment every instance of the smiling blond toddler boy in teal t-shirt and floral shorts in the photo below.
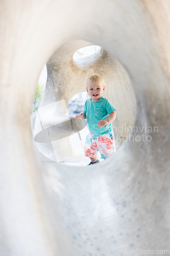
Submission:
{"label": "smiling blond toddler boy in teal t-shirt and floral shorts", "polygon": [[84,112],[75,118],[87,119],[89,134],[86,137],[84,151],[85,156],[91,162],[88,165],[98,163],[98,151],[101,158],[106,159],[116,150],[114,147],[114,135],[111,122],[116,118],[115,108],[111,102],[102,97],[105,91],[105,82],[102,76],[93,74],[87,78],[86,90],[91,97],[86,100]]}

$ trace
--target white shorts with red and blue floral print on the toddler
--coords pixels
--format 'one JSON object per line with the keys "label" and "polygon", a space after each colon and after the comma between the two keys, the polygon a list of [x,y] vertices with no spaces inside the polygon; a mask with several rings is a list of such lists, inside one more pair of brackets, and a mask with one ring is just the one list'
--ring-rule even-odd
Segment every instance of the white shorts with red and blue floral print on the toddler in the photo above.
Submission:
{"label": "white shorts with red and blue floral print on the toddler", "polygon": [[86,157],[96,157],[98,151],[101,153],[101,158],[103,159],[111,156],[116,152],[113,131],[99,137],[95,137],[92,133],[89,133],[86,137],[84,151]]}

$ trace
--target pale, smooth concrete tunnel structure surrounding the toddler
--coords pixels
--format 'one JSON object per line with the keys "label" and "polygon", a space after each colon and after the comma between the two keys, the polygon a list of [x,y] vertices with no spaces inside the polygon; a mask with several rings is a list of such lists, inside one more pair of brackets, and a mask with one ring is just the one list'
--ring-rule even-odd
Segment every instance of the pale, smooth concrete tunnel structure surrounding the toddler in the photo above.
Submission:
{"label": "pale, smooth concrete tunnel structure surrounding the toddler", "polygon": [[[7,0],[0,5],[1,255],[140,255],[140,249],[166,254],[169,2]],[[78,67],[72,55],[89,45],[102,47],[99,58],[88,68]],[[44,63],[48,77],[34,143],[30,116]],[[86,77],[96,71],[106,80],[106,97],[115,102],[115,126],[133,129],[116,135],[119,148],[105,162],[66,165],[61,156],[71,118],[62,120],[68,122],[57,138],[50,127],[59,129],[69,99],[84,91]],[[74,127],[81,131],[83,124]],[[151,140],[124,142],[127,135]],[[69,144],[69,161],[78,161],[71,152]]]}

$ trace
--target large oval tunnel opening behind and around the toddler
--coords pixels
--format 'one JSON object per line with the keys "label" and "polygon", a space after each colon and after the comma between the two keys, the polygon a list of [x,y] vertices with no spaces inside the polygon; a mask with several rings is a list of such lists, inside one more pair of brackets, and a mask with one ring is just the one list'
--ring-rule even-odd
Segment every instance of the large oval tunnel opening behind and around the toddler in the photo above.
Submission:
{"label": "large oval tunnel opening behind and around the toddler", "polygon": [[[85,47],[80,47],[82,45]],[[65,49],[67,54],[64,54]],[[112,127],[118,150],[128,137],[136,117],[133,86],[118,60],[101,46],[74,40],[57,49],[46,63],[46,68],[45,90],[33,127],[38,151],[50,161],[87,165],[89,159],[84,156],[83,150],[85,134],[88,133],[86,121],[75,119],[75,115],[83,111],[87,99],[86,79],[94,73],[104,78],[106,90],[103,96],[116,109],[117,117]],[[81,97],[83,102],[80,108]]]}

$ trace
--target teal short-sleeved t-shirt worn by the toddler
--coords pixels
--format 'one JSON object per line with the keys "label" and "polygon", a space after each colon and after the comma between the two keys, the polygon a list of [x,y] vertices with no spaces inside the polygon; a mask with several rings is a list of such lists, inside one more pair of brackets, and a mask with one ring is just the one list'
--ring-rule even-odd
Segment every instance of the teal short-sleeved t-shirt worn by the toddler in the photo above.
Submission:
{"label": "teal short-sleeved t-shirt worn by the toddler", "polygon": [[116,109],[110,102],[110,100],[101,97],[99,101],[91,102],[91,98],[86,100],[84,106],[84,114],[87,118],[87,127],[90,133],[94,136],[99,137],[112,130],[112,124],[108,123],[104,127],[99,127],[97,123],[106,119],[109,114]]}

